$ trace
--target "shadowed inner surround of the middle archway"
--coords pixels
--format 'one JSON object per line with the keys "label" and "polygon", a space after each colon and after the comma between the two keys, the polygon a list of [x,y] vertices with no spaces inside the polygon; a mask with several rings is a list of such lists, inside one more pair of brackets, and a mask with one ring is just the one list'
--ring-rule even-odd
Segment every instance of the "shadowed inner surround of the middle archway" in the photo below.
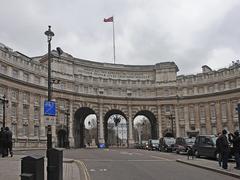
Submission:
{"label": "shadowed inner surround of the middle archway", "polygon": [[120,111],[120,110],[117,110],[117,109],[112,109],[110,111],[108,111],[105,116],[104,116],[104,122],[103,122],[103,125],[104,125],[104,140],[105,140],[105,145],[108,147],[109,146],[109,142],[108,142],[108,120],[109,118],[112,116],[112,115],[115,115],[115,114],[118,114],[118,115],[121,115],[123,118],[125,118],[126,120],[126,127],[127,127],[127,146],[128,146],[128,119],[126,117],[126,115]]}

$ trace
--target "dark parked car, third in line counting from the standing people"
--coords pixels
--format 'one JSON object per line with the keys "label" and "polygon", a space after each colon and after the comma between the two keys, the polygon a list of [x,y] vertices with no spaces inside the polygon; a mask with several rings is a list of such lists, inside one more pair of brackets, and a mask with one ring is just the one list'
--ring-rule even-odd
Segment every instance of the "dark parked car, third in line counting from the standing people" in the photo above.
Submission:
{"label": "dark parked car, third in line counting from the standing people", "polygon": [[176,140],[173,137],[163,137],[159,140],[159,151],[172,152]]}

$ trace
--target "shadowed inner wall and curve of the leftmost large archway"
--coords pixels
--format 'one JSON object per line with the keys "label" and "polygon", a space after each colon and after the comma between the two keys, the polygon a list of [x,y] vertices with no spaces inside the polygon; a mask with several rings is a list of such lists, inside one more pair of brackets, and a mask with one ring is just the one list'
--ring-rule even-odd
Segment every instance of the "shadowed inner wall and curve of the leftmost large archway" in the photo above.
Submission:
{"label": "shadowed inner wall and curve of the leftmost large archway", "polygon": [[[90,114],[95,114],[95,111],[88,107],[79,108],[74,114],[74,142],[76,148],[84,148],[85,146],[85,125],[84,121]],[[98,133],[97,133],[98,134]]]}

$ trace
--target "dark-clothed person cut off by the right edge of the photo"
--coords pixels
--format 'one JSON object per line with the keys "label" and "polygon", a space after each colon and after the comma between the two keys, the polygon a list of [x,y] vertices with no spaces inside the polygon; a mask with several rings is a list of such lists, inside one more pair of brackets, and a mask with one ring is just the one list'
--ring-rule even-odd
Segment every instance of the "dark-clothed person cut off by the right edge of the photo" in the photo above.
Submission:
{"label": "dark-clothed person cut off by the right edge of the photo", "polygon": [[233,153],[236,161],[235,169],[240,170],[240,136],[239,131],[236,130],[234,134],[230,133],[228,136],[229,141],[233,144]]}

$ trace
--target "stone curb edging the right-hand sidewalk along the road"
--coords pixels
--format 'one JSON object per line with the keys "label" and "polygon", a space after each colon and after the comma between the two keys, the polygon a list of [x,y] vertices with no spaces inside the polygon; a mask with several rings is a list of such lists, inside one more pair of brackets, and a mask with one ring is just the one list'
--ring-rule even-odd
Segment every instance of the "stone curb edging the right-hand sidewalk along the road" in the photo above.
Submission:
{"label": "stone curb edging the right-hand sidewalk along the road", "polygon": [[187,164],[187,165],[198,167],[198,168],[202,168],[202,169],[206,169],[206,170],[209,170],[209,171],[214,171],[214,172],[224,174],[224,175],[228,175],[228,176],[231,176],[231,177],[240,178],[240,174],[236,174],[236,173],[233,173],[233,172],[228,172],[228,171],[225,171],[225,170],[215,169],[215,168],[211,168],[211,167],[207,167],[207,166],[203,166],[203,165],[199,165],[199,164],[193,164],[193,163],[190,163],[190,162],[182,161],[181,159],[177,159],[176,162]]}

